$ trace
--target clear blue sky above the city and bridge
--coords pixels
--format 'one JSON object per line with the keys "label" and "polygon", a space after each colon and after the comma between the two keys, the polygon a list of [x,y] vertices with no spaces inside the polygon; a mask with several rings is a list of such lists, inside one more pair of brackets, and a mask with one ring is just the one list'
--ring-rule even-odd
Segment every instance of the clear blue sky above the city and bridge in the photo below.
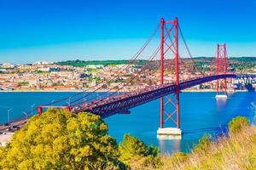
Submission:
{"label": "clear blue sky above the city and bridge", "polygon": [[178,17],[195,56],[212,56],[217,42],[230,56],[256,56],[255,8],[253,0],[0,0],[0,63],[129,59],[161,16]]}

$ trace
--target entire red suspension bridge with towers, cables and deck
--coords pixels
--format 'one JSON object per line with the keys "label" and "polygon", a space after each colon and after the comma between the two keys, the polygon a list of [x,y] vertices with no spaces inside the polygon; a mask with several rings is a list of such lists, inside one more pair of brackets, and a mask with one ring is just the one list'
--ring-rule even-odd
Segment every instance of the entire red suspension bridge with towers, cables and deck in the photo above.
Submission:
{"label": "entire red suspension bridge with towers, cables and deck", "polygon": [[[134,74],[127,76],[125,81],[105,90],[104,85],[119,80],[127,69],[137,64],[159,30],[160,45],[149,55],[145,64],[141,65]],[[180,42],[183,42],[183,52],[189,57],[184,58],[179,53],[181,50]],[[42,114],[44,108],[56,107],[66,108],[73,113],[90,112],[105,118],[114,114],[128,114],[130,109],[137,105],[160,99],[160,129],[158,133],[181,134],[179,104],[181,90],[205,82],[217,81],[217,98],[223,98],[226,96],[228,79],[237,77],[255,76],[236,75],[230,72],[225,44],[217,45],[216,58],[212,60],[212,67],[209,71],[201,71],[189,51],[177,18],[174,20],[162,18],[160,24],[154,29],[153,34],[138,50],[137,54],[126,65],[121,66],[118,71],[113,72],[108,80],[68,98],[55,100],[55,102],[46,105],[38,105],[38,114]],[[131,86],[137,88],[131,90]],[[104,93],[95,96],[97,92],[102,90]]]}

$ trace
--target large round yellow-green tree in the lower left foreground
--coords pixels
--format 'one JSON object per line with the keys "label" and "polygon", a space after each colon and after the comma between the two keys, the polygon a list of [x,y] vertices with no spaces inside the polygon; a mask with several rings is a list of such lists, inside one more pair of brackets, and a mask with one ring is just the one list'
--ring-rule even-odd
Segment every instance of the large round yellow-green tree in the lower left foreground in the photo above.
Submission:
{"label": "large round yellow-green tree in the lower left foreground", "polygon": [[104,169],[119,150],[100,116],[49,109],[33,116],[0,150],[1,169]]}

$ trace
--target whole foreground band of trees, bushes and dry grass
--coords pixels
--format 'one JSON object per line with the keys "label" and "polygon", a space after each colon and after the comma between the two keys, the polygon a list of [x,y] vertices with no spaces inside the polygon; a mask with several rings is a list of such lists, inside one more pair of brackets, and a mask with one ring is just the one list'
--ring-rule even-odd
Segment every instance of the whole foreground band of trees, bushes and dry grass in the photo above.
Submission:
{"label": "whole foreground band of trees, bushes and dry grass", "polygon": [[160,157],[131,134],[117,144],[100,116],[50,109],[0,147],[0,169],[256,169],[256,127],[238,116],[229,130],[217,141],[205,135],[190,154]]}

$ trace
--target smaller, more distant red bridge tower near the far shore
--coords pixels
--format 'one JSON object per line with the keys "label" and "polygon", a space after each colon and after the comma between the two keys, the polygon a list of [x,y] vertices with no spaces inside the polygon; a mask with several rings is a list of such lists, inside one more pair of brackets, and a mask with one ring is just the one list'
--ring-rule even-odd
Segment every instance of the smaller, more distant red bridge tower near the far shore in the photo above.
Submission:
{"label": "smaller, more distant red bridge tower near the far shore", "polygon": [[[216,54],[216,75],[227,74],[228,68],[228,57],[226,51],[226,44],[217,44],[217,54]],[[226,99],[227,98],[227,79],[219,79],[216,84],[217,94],[216,99]]]}

